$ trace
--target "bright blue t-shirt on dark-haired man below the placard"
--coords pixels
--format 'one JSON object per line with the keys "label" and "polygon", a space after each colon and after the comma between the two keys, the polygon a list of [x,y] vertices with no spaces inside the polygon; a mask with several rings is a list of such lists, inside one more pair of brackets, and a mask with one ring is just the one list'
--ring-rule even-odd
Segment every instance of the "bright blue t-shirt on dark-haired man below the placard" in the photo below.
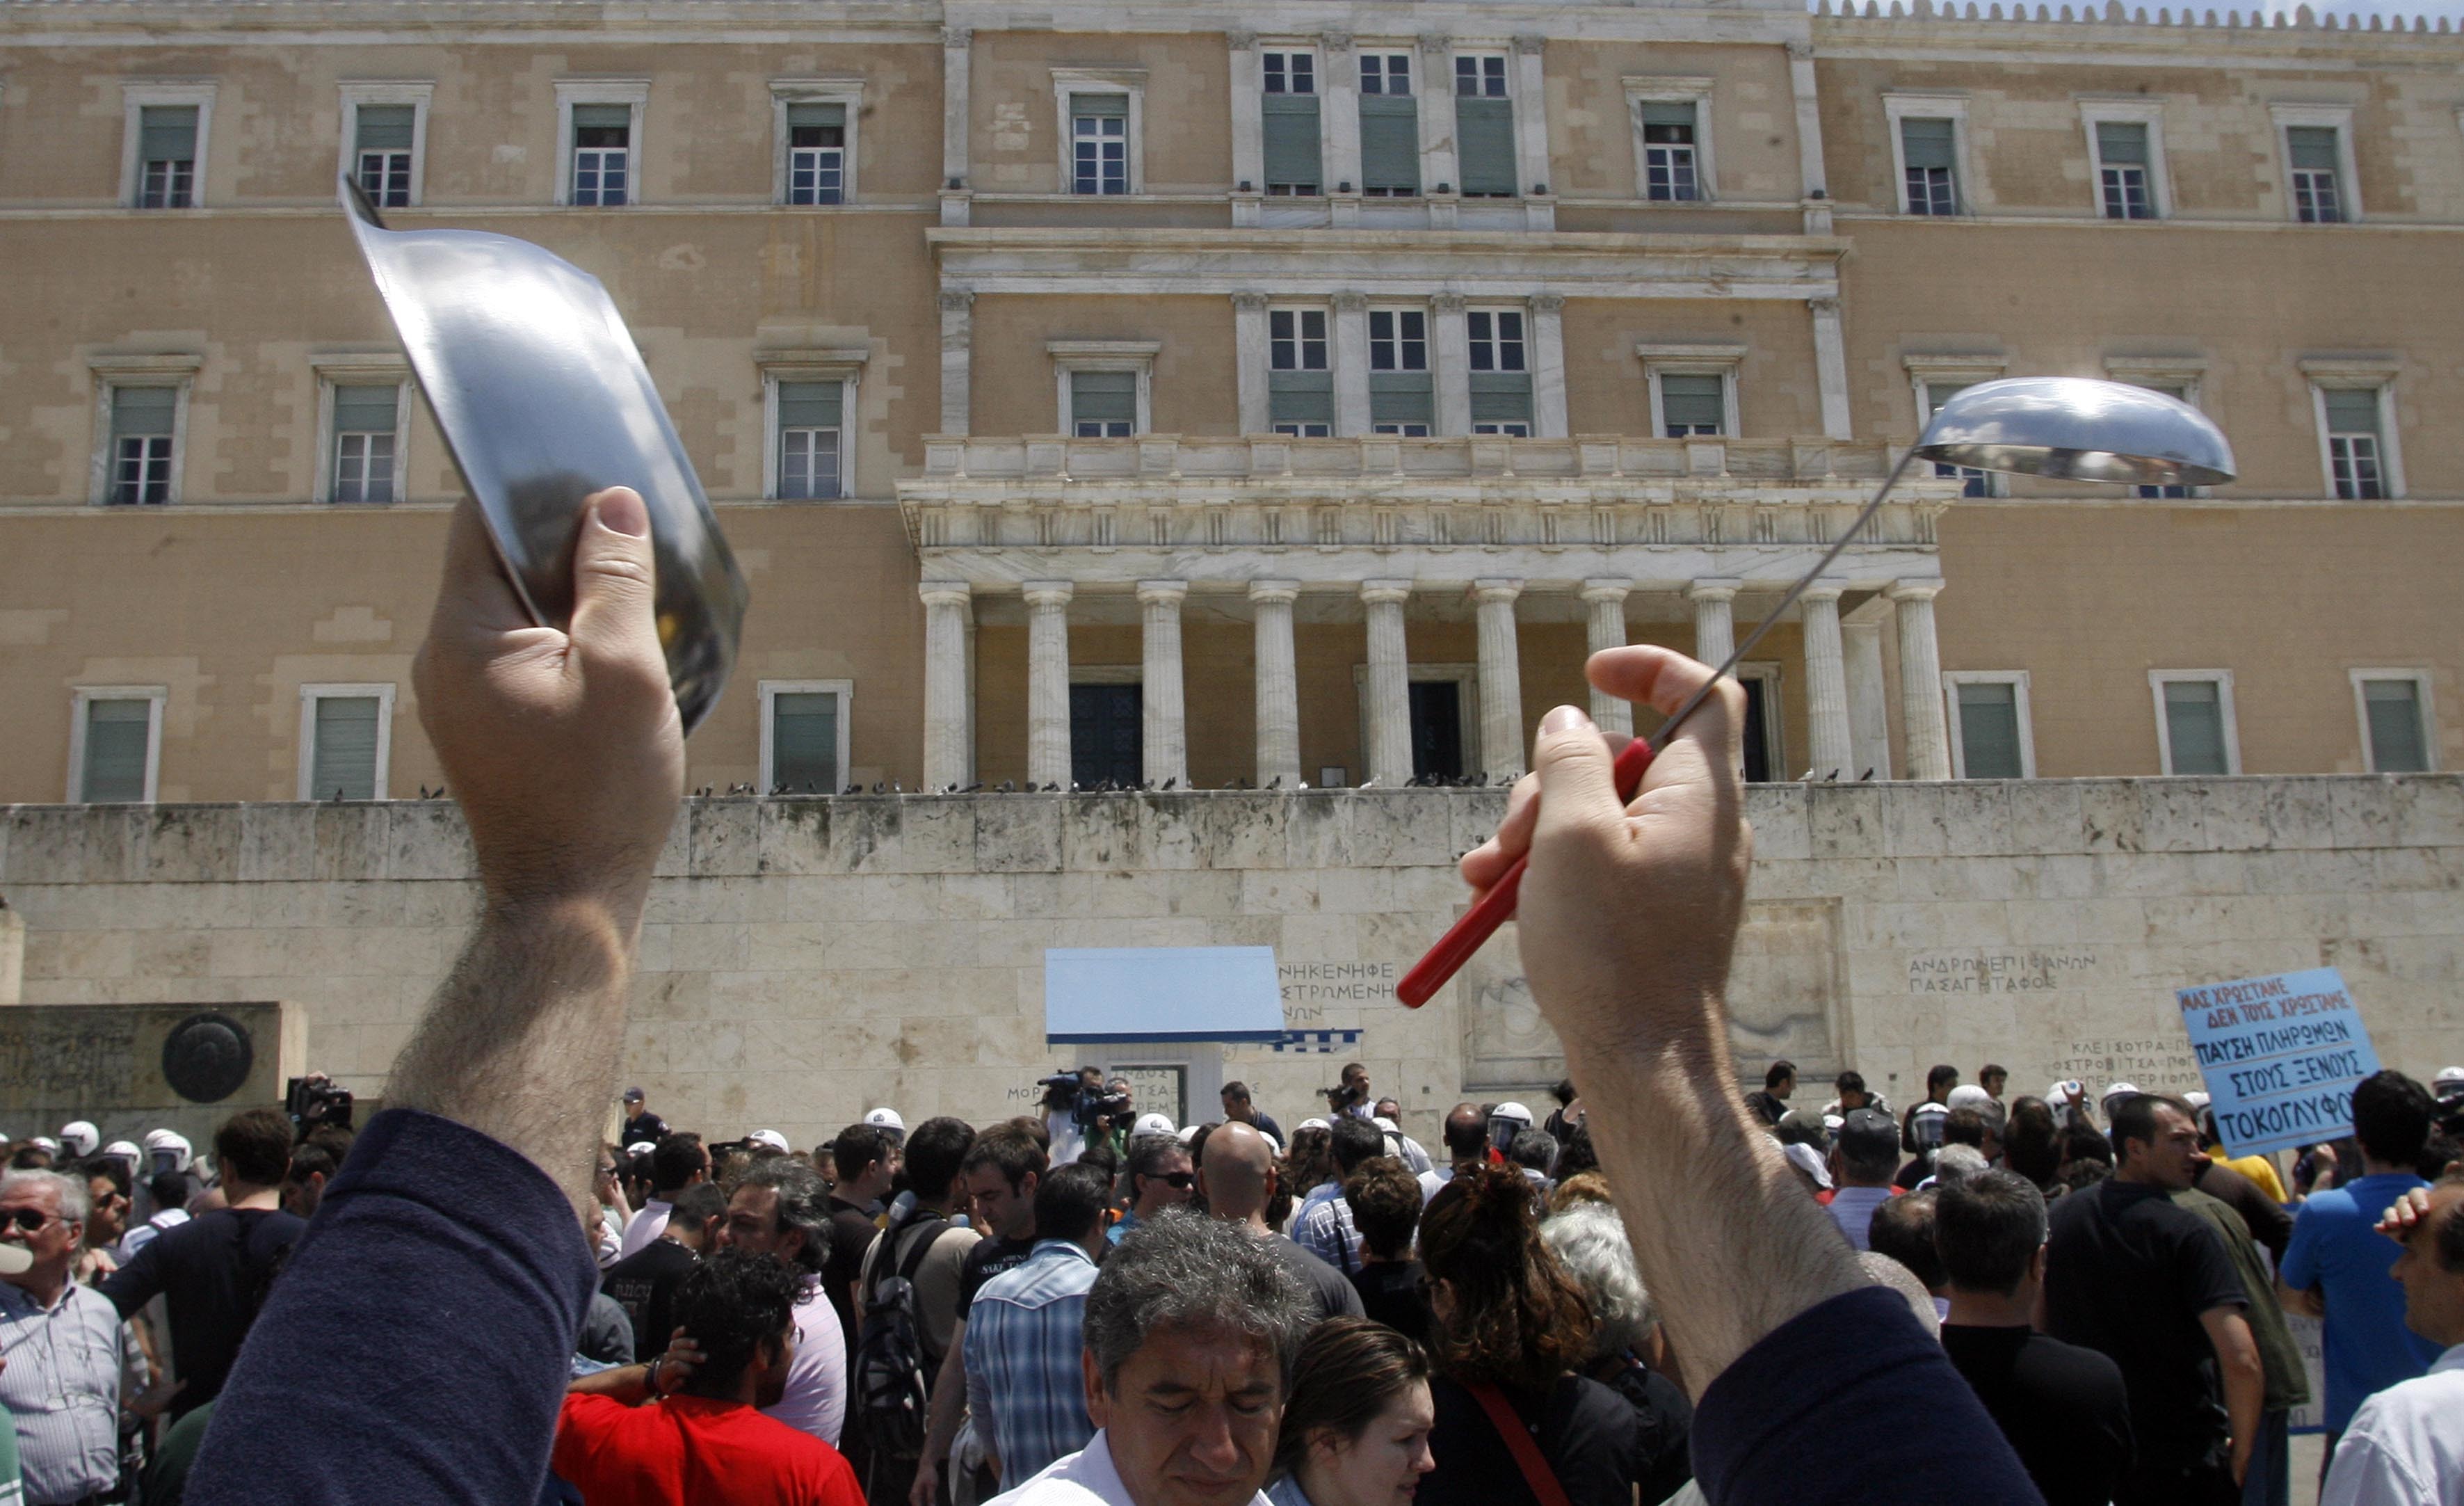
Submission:
{"label": "bright blue t-shirt on dark-haired man below the placard", "polygon": [[2294,1292],[2326,1294],[2326,1425],[2343,1432],[2361,1402],[2412,1380],[2439,1358],[2439,1346],[2405,1329],[2405,1289],[2388,1267],[2402,1245],[2378,1232],[2390,1203],[2425,1188],[2410,1171],[2388,1171],[2311,1193],[2294,1215],[2294,1240],[2279,1274]]}

